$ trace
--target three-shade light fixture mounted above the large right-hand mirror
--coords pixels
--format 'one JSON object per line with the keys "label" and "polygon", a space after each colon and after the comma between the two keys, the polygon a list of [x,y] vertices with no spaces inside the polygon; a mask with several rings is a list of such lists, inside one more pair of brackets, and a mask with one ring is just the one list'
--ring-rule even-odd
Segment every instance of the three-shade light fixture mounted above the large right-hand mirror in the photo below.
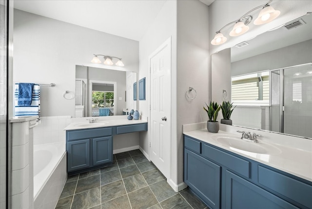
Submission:
{"label": "three-shade light fixture mounted above the large right-hand mirror", "polygon": [[232,37],[239,36],[239,35],[246,33],[249,30],[249,26],[247,25],[253,20],[253,17],[248,16],[248,14],[261,7],[263,9],[260,11],[258,18],[254,21],[254,24],[259,25],[259,24],[264,24],[264,23],[273,21],[275,18],[277,18],[280,15],[280,11],[274,10],[274,8],[269,5],[269,3],[271,3],[272,1],[273,0],[269,0],[267,3],[257,6],[254,9],[250,10],[238,20],[232,21],[224,25],[220,30],[215,32],[216,35],[215,35],[215,38],[211,41],[211,44],[219,45],[219,44],[226,42],[227,38],[223,36],[223,34],[221,33],[221,30],[223,30],[225,27],[233,23],[235,23],[235,25],[232,31],[230,32],[230,36]]}

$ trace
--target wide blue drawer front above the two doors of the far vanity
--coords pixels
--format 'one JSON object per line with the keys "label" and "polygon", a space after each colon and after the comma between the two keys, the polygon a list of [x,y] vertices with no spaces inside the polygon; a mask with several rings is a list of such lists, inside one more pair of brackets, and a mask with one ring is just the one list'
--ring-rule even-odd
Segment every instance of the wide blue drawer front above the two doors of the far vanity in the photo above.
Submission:
{"label": "wide blue drawer front above the two doors of the far vanity", "polygon": [[112,135],[112,128],[91,128],[66,131],[68,141]]}

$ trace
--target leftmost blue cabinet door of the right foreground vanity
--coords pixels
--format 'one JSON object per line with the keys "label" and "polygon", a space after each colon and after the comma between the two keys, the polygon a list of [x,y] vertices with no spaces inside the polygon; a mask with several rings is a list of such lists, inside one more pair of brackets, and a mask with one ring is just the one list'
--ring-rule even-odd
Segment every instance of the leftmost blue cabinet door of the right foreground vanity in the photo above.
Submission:
{"label": "leftmost blue cabinet door of the right foreground vanity", "polygon": [[211,208],[220,208],[221,167],[184,149],[184,182]]}

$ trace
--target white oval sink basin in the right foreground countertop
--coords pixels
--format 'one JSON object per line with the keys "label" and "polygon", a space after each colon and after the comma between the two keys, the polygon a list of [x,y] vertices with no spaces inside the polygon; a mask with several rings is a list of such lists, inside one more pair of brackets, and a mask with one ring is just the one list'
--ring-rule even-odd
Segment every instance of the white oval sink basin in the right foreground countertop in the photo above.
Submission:
{"label": "white oval sink basin in the right foreground countertop", "polygon": [[251,152],[270,155],[281,152],[277,147],[261,142],[261,139],[258,140],[258,143],[254,143],[252,140],[246,141],[240,139],[239,137],[226,134],[215,134],[212,138],[221,143],[223,146],[228,146],[232,150],[245,152],[246,154],[248,154],[247,152]]}

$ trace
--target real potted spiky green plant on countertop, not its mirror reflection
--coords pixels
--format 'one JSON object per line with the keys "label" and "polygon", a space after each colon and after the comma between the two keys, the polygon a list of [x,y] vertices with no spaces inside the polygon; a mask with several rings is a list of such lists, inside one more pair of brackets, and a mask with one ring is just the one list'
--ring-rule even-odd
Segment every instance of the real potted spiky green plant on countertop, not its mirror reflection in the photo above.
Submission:
{"label": "real potted spiky green plant on countertop, not its mirror reflection", "polygon": [[207,112],[209,121],[207,121],[207,129],[209,132],[217,133],[219,131],[219,123],[216,121],[218,117],[218,112],[221,109],[221,106],[215,102],[210,102],[208,105],[206,103],[207,109],[204,107],[204,110]]}

